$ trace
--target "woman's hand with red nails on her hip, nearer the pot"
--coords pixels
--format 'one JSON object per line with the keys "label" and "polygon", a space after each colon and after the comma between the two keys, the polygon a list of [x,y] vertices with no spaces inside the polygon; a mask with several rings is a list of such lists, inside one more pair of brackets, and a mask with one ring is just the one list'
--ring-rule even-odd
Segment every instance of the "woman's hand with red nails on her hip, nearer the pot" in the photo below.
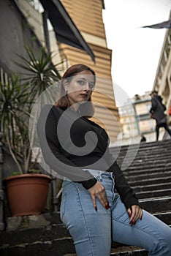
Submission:
{"label": "woman's hand with red nails on her hip, nearer the pot", "polygon": [[102,186],[102,184],[99,181],[97,181],[96,184],[94,184],[93,187],[88,189],[88,192],[91,195],[91,199],[92,199],[92,202],[94,204],[94,209],[96,211],[97,211],[96,197],[99,199],[100,203],[102,203],[102,206],[104,206],[104,208],[108,209],[110,207],[109,206],[109,201],[107,200],[106,191],[105,191],[104,187]]}

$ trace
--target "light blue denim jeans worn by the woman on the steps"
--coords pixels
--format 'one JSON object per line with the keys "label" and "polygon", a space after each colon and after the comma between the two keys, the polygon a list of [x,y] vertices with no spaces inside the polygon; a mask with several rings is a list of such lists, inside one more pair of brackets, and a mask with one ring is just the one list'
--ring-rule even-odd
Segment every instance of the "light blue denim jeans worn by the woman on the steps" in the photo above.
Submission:
{"label": "light blue denim jeans worn by the woman on the steps", "polygon": [[71,234],[77,256],[110,256],[111,240],[141,246],[149,255],[171,255],[171,229],[143,210],[142,220],[129,224],[129,215],[118,194],[114,193],[112,173],[96,177],[102,183],[110,203],[105,209],[96,198],[97,211],[82,184],[64,181],[61,221]]}

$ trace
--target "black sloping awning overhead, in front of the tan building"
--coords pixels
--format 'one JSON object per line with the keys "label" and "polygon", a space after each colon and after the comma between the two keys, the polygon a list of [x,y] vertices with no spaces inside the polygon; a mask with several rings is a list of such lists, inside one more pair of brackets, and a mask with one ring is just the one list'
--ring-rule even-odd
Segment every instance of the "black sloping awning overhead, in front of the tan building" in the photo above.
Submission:
{"label": "black sloping awning overhead, in front of the tan building", "polygon": [[88,46],[80,31],[75,26],[72,18],[66,12],[63,4],[59,0],[39,0],[42,7],[47,11],[48,18],[56,32],[58,42],[63,42],[66,45],[71,45],[86,52],[95,62],[95,56],[91,48]]}

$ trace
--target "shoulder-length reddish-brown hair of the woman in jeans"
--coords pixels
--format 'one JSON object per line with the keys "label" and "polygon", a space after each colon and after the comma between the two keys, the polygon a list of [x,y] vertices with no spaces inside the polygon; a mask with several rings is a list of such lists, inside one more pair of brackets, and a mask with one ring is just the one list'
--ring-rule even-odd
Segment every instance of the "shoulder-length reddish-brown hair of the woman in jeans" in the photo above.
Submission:
{"label": "shoulder-length reddish-brown hair of the woman in jeans", "polygon": [[[64,80],[68,80],[70,83],[72,81],[72,77],[77,75],[77,73],[82,72],[84,70],[89,70],[94,75],[94,84],[96,83],[96,73],[90,67],[84,64],[75,64],[69,67],[61,78],[60,85],[60,95],[59,99],[55,102],[56,107],[58,108],[69,108],[70,102],[68,96],[64,90]],[[92,117],[94,116],[94,106],[91,102],[91,97],[88,99],[88,104],[80,105],[80,113],[82,116]]]}

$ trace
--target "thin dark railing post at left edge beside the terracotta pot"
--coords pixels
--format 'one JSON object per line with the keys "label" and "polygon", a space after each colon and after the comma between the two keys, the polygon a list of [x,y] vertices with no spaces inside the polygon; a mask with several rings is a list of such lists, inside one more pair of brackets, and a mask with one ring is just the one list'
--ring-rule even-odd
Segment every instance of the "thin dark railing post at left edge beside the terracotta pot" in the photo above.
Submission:
{"label": "thin dark railing post at left edge beside the terracotta pot", "polygon": [[2,189],[2,166],[3,166],[3,150],[0,131],[0,231],[4,230],[4,191]]}

